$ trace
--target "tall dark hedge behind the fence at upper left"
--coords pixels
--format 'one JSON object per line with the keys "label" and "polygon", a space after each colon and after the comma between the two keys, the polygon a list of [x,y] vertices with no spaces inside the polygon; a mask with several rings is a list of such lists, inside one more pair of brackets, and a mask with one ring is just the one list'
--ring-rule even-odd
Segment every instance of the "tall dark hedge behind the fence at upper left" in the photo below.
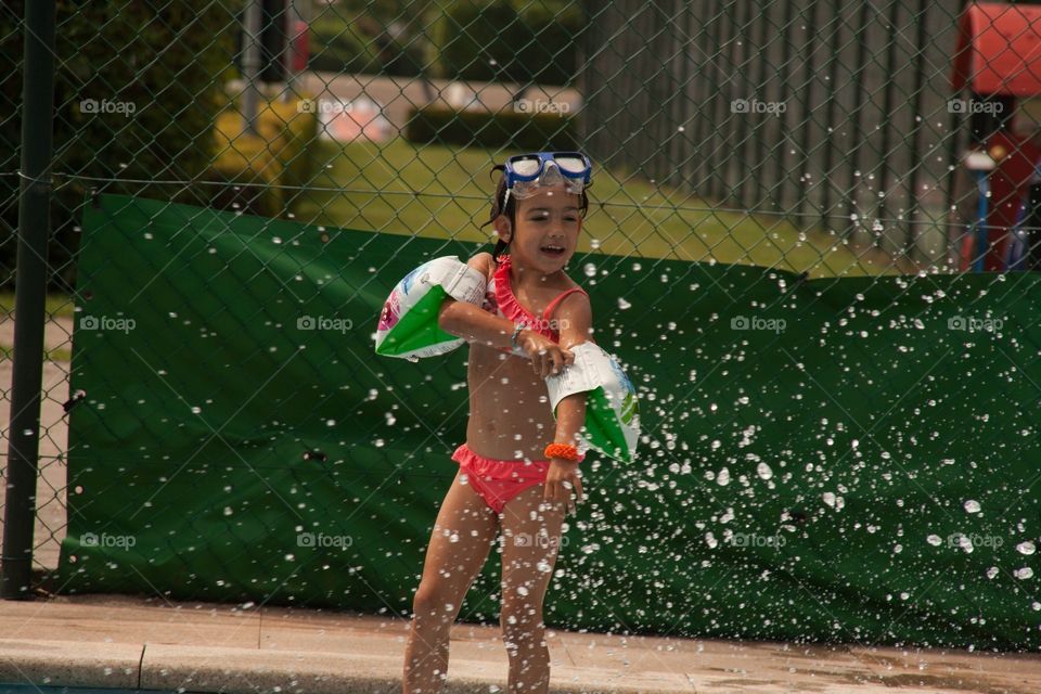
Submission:
{"label": "tall dark hedge behind the fence at upper left", "polygon": [[[25,0],[0,12],[0,170],[18,168]],[[220,75],[232,62],[233,8],[210,0],[59,0],[53,171],[191,179],[209,165]],[[86,113],[85,100],[123,104]],[[132,110],[132,113],[130,111]],[[74,282],[79,207],[91,188],[200,204],[190,188],[55,179],[50,285]],[[204,203],[205,204],[205,203]],[[0,177],[0,286],[12,281],[17,179]]]}

